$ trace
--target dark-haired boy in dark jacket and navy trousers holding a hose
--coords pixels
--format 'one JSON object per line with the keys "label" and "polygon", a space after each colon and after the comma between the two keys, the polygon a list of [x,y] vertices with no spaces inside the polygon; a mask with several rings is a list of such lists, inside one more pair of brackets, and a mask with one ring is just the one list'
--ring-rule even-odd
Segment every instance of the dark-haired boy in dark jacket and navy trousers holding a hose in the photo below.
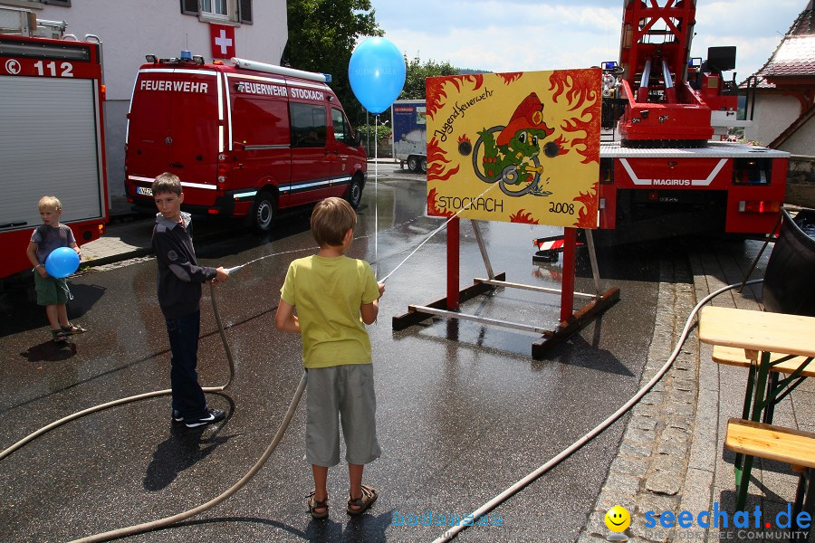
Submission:
{"label": "dark-haired boy in dark jacket and navy trousers holding a hose", "polygon": [[181,211],[184,193],[181,180],[169,173],[153,181],[158,207],[152,246],[158,262],[158,305],[167,321],[172,358],[172,420],[196,428],[224,420],[223,409],[210,409],[198,385],[198,335],[201,324],[201,284],[229,279],[224,268],[207,268],[196,262],[192,243],[192,219]]}

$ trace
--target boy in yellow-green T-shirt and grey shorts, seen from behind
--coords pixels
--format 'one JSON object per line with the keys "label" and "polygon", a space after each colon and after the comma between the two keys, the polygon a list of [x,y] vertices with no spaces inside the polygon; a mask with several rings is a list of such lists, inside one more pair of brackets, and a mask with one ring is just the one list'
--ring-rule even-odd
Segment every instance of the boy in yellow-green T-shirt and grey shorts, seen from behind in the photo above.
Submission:
{"label": "boy in yellow-green T-shirt and grey shorts, seen from behind", "polygon": [[328,517],[326,480],[329,467],[340,463],[340,415],[350,480],[346,511],[359,515],[379,495],[362,484],[365,464],[381,454],[365,324],[377,319],[385,285],[377,283],[368,262],[344,256],[356,224],[345,200],[326,198],[314,207],[312,234],[320,251],[289,265],[274,318],[278,330],[302,335],[308,372],[306,460],[314,476],[308,506],[314,519]]}

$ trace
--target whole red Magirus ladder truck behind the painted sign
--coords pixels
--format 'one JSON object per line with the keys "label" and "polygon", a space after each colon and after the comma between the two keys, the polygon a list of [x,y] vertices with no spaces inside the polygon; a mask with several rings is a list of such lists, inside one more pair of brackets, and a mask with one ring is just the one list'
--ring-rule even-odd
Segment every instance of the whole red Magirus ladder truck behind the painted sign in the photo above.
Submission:
{"label": "whole red Magirus ladder truck behind the painted sign", "polygon": [[776,223],[789,154],[714,140],[748,121],[735,81],[724,81],[735,47],[690,56],[695,8],[623,2],[619,62],[602,64],[601,240],[768,233]]}

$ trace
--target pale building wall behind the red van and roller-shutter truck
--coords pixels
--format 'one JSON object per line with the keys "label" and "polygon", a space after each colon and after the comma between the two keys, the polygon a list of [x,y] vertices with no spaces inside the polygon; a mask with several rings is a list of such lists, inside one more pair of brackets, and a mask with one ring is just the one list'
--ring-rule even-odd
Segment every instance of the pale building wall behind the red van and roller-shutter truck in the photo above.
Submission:
{"label": "pale building wall behind the red van and roller-shutter truck", "polygon": [[[21,2],[4,3],[21,7]],[[105,107],[108,186],[110,195],[124,195],[124,134],[130,94],[144,55],[177,57],[182,49],[212,62],[209,24],[181,14],[178,0],[74,0],[71,7],[31,2],[38,19],[64,21],[67,33],[82,39],[101,38],[108,103]],[[42,9],[34,9],[42,7]],[[235,55],[279,64],[288,37],[285,0],[253,0],[253,24],[235,27]]]}

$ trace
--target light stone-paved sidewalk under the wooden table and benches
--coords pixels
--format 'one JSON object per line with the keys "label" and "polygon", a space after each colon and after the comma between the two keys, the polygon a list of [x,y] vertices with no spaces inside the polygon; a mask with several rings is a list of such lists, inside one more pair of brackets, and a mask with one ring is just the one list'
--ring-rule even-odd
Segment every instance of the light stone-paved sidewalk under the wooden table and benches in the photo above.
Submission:
{"label": "light stone-paved sidewalk under the wooden table and benches", "polygon": [[[695,250],[690,263],[693,276],[688,277],[688,263],[680,259],[661,262],[657,307],[647,367],[641,384],[657,373],[676,345],[687,315],[697,300],[728,284],[741,283],[762,243],[711,243]],[[760,278],[766,268],[772,245],[762,255],[751,279]],[[761,284],[725,291],[709,302],[720,307],[762,310]],[[698,322],[698,321],[696,321]],[[701,511],[728,512],[731,521],[735,508],[733,452],[724,449],[727,419],[740,417],[747,370],[717,365],[711,359],[713,348],[697,340],[698,325],[691,334],[673,367],[652,391],[634,407],[618,454],[590,514],[580,543],[598,543],[611,533],[604,517],[614,505],[631,514],[627,531],[630,540],[680,541],[705,540],[753,541],[761,530],[714,528],[694,524],[691,528],[673,530],[645,528],[645,513],[654,511],[689,511],[696,519]],[[815,380],[801,386],[776,405],[773,424],[815,432]],[[762,511],[762,522],[772,520],[795,499],[798,474],[780,462],[756,459],[753,465],[746,510],[756,506]],[[754,518],[750,517],[751,528]],[[777,530],[777,529],[776,529]],[[766,530],[770,534],[772,529]],[[775,532],[777,533],[777,532]],[[770,536],[762,540],[775,541]],[[815,541],[810,531],[810,541]]]}

